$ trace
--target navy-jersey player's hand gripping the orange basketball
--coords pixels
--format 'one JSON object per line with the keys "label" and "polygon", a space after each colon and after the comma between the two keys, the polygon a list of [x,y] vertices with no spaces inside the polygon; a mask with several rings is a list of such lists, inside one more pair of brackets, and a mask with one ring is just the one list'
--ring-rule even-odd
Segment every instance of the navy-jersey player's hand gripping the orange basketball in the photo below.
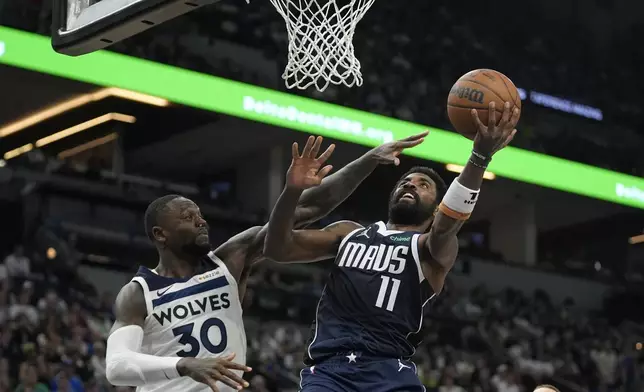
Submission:
{"label": "navy-jersey player's hand gripping the orange basketball", "polygon": [[510,102],[503,106],[501,121],[496,123],[497,113],[494,101],[490,102],[487,125],[481,122],[476,109],[472,109],[472,119],[478,128],[474,138],[474,151],[486,158],[491,158],[497,151],[507,146],[517,133],[521,111],[517,108],[510,110]]}

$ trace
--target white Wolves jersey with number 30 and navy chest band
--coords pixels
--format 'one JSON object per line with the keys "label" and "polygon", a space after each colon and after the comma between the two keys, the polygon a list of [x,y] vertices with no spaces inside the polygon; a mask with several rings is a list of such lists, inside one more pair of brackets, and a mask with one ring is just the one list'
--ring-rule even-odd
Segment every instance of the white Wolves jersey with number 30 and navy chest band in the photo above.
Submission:
{"label": "white Wolves jersey with number 30 and navy chest band", "polygon": [[[133,282],[143,288],[147,317],[143,325],[143,354],[161,357],[216,358],[235,353],[246,364],[246,333],[237,281],[213,252],[209,271],[190,278],[159,276],[141,267]],[[238,375],[243,372],[235,371]],[[222,392],[234,391],[217,383]],[[138,392],[208,392],[206,384],[189,377],[151,383]]]}

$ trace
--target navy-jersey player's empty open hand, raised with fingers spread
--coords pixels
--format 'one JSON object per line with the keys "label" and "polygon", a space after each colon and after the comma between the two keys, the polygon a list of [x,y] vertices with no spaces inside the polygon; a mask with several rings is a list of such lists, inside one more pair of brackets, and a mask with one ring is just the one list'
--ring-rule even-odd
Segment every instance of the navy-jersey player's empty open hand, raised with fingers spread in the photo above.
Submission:
{"label": "navy-jersey player's empty open hand, raised with fingers spread", "polygon": [[318,186],[322,183],[324,177],[333,169],[331,165],[324,165],[327,159],[333,154],[335,144],[331,144],[326,151],[320,156],[320,147],[322,146],[322,137],[309,136],[306,141],[304,150],[300,155],[300,149],[297,143],[293,143],[293,161],[286,173],[286,185],[293,189],[307,189]]}

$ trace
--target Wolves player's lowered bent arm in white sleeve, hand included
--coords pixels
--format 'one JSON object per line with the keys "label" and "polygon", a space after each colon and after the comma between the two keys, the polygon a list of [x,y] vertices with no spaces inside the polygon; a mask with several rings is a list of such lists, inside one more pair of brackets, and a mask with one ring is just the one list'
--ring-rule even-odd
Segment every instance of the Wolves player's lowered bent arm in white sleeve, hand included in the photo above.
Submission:
{"label": "Wolves player's lowered bent arm in white sleeve, hand included", "polygon": [[143,324],[147,315],[145,296],[138,283],[130,282],[119,292],[114,305],[116,322],[107,339],[106,376],[117,386],[142,386],[188,376],[218,391],[220,381],[232,388],[248,386],[231,369],[249,371],[246,366],[223,358],[159,357],[141,353]]}

